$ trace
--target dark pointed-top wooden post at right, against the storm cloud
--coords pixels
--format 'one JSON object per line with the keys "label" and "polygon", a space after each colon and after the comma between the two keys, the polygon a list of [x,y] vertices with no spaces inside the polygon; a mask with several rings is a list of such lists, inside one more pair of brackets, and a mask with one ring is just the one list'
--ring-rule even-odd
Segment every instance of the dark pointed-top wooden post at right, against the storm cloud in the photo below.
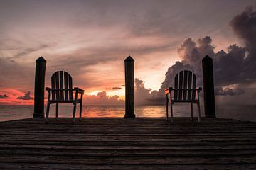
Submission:
{"label": "dark pointed-top wooden post at right, against the storm cloud", "polygon": [[203,57],[203,100],[205,115],[208,118],[215,118],[215,96],[213,81],[213,59],[208,55]]}

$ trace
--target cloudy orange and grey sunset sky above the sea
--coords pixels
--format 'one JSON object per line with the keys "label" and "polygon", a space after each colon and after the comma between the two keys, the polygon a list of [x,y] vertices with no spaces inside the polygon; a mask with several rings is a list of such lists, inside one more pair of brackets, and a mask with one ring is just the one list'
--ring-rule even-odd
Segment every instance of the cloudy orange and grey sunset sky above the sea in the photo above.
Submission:
{"label": "cloudy orange and grey sunset sky above the sea", "polygon": [[179,64],[191,65],[201,85],[204,55],[215,62],[217,103],[255,104],[255,5],[249,0],[1,0],[0,105],[33,104],[40,56],[47,60],[46,86],[53,72],[65,70],[85,89],[85,105],[123,104],[129,55],[135,60],[138,104],[161,96],[161,83],[171,84]]}

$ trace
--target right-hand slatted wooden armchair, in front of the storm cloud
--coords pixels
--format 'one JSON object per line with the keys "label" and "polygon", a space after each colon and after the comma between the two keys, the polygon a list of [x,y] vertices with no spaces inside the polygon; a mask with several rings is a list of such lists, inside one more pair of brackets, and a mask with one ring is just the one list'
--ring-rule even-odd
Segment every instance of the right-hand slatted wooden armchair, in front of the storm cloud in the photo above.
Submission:
{"label": "right-hand slatted wooden armchair, in front of the storm cloud", "polygon": [[193,103],[198,106],[198,122],[201,122],[201,111],[199,92],[202,90],[201,87],[196,88],[196,75],[188,70],[183,70],[176,74],[174,79],[174,88],[169,87],[164,90],[166,94],[166,120],[169,119],[168,105],[171,103],[171,122],[173,118],[173,105],[174,102],[187,102],[191,103],[191,121],[193,120]]}

